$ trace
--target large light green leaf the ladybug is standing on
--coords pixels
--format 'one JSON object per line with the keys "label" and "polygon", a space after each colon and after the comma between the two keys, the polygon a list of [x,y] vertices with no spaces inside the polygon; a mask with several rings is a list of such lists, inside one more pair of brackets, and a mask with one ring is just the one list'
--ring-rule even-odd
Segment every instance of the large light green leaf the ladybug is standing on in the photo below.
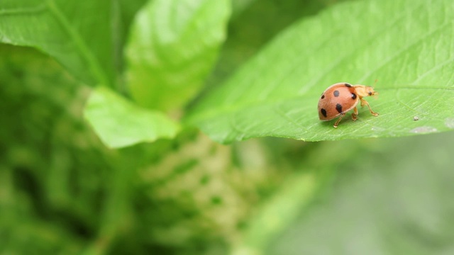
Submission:
{"label": "large light green leaf the ladybug is standing on", "polygon": [[[218,142],[250,137],[340,140],[454,129],[454,2],[353,1],[301,20],[278,35],[226,84],[201,100],[187,123]],[[372,85],[337,129],[317,102],[331,84]],[[417,117],[418,120],[414,120]]]}

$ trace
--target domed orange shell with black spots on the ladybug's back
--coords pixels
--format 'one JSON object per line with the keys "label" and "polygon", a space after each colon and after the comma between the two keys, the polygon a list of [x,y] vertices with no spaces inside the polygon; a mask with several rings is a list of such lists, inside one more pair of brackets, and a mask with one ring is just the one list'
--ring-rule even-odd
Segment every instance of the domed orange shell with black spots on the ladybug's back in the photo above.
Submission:
{"label": "domed orange shell with black spots on the ladybug's back", "polygon": [[358,104],[360,97],[355,88],[348,83],[333,84],[321,94],[319,100],[320,120],[332,120],[350,111]]}

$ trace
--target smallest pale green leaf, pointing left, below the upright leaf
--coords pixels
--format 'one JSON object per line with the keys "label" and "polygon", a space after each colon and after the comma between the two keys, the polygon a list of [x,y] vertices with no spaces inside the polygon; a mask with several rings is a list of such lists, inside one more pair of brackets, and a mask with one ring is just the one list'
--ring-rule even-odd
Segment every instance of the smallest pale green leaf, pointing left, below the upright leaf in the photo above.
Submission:
{"label": "smallest pale green leaf, pointing left, below the upright leaf", "polygon": [[179,130],[179,125],[166,115],[140,108],[102,86],[92,91],[84,115],[111,148],[172,138]]}

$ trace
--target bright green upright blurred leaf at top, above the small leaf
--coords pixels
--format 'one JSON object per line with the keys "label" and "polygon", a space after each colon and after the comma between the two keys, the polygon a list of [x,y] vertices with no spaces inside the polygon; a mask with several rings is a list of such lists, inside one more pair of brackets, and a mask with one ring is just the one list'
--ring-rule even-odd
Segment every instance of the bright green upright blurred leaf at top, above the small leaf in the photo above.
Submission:
{"label": "bright green upright blurred leaf at top, above the small leaf", "polygon": [[138,13],[126,49],[138,103],[170,111],[194,96],[226,36],[228,0],[155,0]]}

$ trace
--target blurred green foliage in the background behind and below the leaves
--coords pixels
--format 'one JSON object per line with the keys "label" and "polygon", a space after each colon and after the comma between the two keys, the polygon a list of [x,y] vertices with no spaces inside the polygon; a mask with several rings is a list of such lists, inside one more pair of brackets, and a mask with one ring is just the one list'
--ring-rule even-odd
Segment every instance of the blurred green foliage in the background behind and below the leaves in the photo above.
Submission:
{"label": "blurred green foliage in the background behind and below the leaves", "polygon": [[[234,5],[206,90],[334,2]],[[0,254],[454,250],[452,132],[226,146],[184,130],[111,150],[82,118],[88,86],[37,50],[1,45],[0,56]]]}

